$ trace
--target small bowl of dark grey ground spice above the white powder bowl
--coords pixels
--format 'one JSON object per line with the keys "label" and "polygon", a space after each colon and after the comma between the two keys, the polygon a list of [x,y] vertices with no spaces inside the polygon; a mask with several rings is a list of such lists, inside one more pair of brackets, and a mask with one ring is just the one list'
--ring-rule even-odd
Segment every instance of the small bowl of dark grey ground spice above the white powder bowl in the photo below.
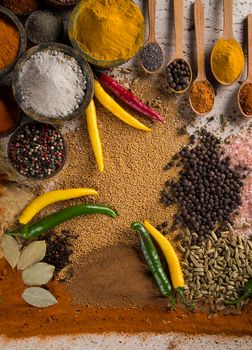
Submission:
{"label": "small bowl of dark grey ground spice above the white powder bowl", "polygon": [[27,38],[34,44],[58,41],[62,28],[61,18],[50,11],[33,12],[25,22]]}

